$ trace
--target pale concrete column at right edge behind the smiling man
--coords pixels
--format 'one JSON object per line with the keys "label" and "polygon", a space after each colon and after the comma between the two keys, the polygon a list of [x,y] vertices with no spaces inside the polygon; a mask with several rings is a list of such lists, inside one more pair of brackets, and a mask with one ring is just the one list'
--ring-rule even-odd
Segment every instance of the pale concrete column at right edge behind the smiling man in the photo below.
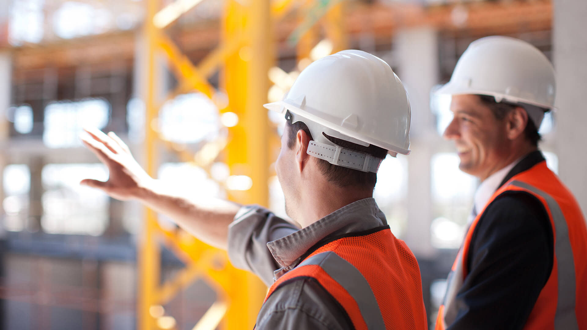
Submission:
{"label": "pale concrete column at right edge behind the smiling man", "polygon": [[554,66],[556,69],[556,153],[559,175],[587,211],[587,2],[554,0]]}

